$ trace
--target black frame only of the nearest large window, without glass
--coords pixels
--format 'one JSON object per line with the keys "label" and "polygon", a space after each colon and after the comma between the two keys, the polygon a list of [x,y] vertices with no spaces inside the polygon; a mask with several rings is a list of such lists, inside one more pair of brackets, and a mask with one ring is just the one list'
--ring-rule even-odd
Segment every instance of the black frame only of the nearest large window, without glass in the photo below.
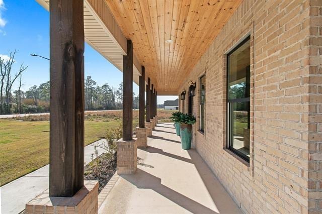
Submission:
{"label": "black frame only of the nearest large window, without glass", "polygon": [[[231,123],[231,113],[232,113],[232,104],[234,102],[248,102],[248,126],[250,127],[250,104],[251,104],[251,98],[250,98],[250,91],[249,91],[249,97],[243,97],[243,98],[235,98],[235,99],[229,99],[229,56],[234,53],[238,48],[240,48],[242,45],[244,45],[246,42],[251,41],[251,35],[247,36],[243,41],[241,41],[236,47],[234,47],[231,51],[229,51],[226,55],[226,148],[232,151],[234,154],[239,156],[240,158],[244,159],[248,163],[250,163],[250,157],[245,155],[244,153],[239,152],[238,150],[231,147],[231,139],[233,139],[233,132],[232,132],[232,123]],[[250,73],[249,77],[250,83]],[[248,88],[250,90],[250,86]]]}

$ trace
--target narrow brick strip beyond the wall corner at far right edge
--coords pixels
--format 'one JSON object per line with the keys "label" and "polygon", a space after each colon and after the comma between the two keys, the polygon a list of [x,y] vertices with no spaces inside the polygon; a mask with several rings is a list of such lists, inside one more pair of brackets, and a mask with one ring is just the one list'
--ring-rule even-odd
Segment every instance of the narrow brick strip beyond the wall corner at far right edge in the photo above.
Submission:
{"label": "narrow brick strip beyond the wall corner at far right edge", "polygon": [[308,96],[308,206],[322,213],[322,1],[311,0]]}

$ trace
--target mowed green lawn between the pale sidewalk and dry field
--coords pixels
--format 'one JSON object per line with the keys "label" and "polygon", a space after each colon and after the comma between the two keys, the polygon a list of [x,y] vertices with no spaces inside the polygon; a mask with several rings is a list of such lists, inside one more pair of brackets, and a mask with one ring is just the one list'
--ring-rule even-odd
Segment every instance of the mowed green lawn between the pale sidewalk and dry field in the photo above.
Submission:
{"label": "mowed green lawn between the pale sidewalk and dry field", "polygon": [[[85,121],[85,145],[121,122]],[[49,122],[0,120],[0,184],[49,163]]]}

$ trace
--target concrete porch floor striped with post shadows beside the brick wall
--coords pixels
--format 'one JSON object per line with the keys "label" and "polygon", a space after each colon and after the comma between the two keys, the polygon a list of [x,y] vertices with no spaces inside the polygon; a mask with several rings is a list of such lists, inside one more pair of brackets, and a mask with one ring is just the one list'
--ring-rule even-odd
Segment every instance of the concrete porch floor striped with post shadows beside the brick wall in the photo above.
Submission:
{"label": "concrete porch floor striped with post shadows beside the brick wall", "polygon": [[171,124],[158,124],[137,156],[136,173],[120,175],[99,213],[242,213]]}

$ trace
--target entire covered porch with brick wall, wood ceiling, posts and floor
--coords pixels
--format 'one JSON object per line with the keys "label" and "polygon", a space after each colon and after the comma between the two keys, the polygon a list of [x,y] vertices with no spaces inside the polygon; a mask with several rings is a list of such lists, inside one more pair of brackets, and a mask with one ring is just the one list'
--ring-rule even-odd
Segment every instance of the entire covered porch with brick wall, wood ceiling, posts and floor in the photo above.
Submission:
{"label": "entire covered porch with brick wall, wood ceiling, posts and floor", "polygon": [[[86,41],[123,72],[119,178],[100,211],[320,213],[320,1],[37,2],[50,11],[52,206],[98,211],[84,183]],[[179,94],[196,150],[157,124],[157,95]]]}

